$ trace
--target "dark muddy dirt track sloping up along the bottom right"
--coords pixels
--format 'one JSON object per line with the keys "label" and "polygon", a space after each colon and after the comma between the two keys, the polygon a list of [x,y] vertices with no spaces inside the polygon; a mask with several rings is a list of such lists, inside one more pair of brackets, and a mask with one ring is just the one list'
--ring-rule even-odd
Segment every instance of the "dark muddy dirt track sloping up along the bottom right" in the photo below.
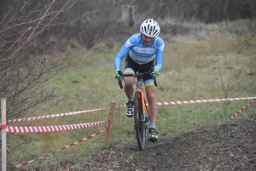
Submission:
{"label": "dark muddy dirt track sloping up along the bottom right", "polygon": [[139,151],[137,144],[109,147],[84,163],[31,170],[256,170],[256,115],[199,128]]}

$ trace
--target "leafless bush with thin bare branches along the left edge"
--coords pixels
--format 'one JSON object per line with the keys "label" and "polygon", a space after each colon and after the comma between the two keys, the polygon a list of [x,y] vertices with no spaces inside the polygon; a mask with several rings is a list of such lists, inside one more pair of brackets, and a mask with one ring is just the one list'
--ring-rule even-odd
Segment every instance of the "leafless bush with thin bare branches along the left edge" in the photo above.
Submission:
{"label": "leafless bush with thin bare branches along the left edge", "polygon": [[[67,58],[45,53],[41,37],[51,27],[63,24],[65,18],[61,14],[75,3],[0,1],[0,94],[7,98],[8,120],[35,116],[44,111],[42,106],[55,105],[67,96],[53,98],[55,89],[44,86],[53,82],[55,74],[70,66],[78,56]],[[8,134],[9,140],[14,140],[14,134]],[[9,147],[9,157],[26,141],[15,134],[16,144]]]}

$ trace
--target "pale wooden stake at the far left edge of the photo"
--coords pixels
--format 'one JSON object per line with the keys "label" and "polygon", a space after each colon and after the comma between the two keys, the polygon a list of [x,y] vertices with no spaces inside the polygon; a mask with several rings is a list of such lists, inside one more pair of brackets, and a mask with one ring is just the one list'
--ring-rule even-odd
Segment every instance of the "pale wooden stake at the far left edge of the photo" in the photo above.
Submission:
{"label": "pale wooden stake at the far left edge of the photo", "polygon": [[2,115],[2,171],[6,171],[6,99],[1,99]]}

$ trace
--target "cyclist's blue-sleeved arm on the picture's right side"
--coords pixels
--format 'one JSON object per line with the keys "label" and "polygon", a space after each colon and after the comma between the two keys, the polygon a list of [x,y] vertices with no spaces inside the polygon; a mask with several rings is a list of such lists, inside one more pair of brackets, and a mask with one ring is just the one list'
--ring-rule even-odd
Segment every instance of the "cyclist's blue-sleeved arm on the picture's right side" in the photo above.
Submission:
{"label": "cyclist's blue-sleeved arm on the picture's right side", "polygon": [[155,66],[157,66],[160,71],[162,68],[162,62],[164,58],[164,48],[165,48],[164,41],[161,38],[158,38],[155,41],[155,47],[157,48],[156,54],[155,54]]}

